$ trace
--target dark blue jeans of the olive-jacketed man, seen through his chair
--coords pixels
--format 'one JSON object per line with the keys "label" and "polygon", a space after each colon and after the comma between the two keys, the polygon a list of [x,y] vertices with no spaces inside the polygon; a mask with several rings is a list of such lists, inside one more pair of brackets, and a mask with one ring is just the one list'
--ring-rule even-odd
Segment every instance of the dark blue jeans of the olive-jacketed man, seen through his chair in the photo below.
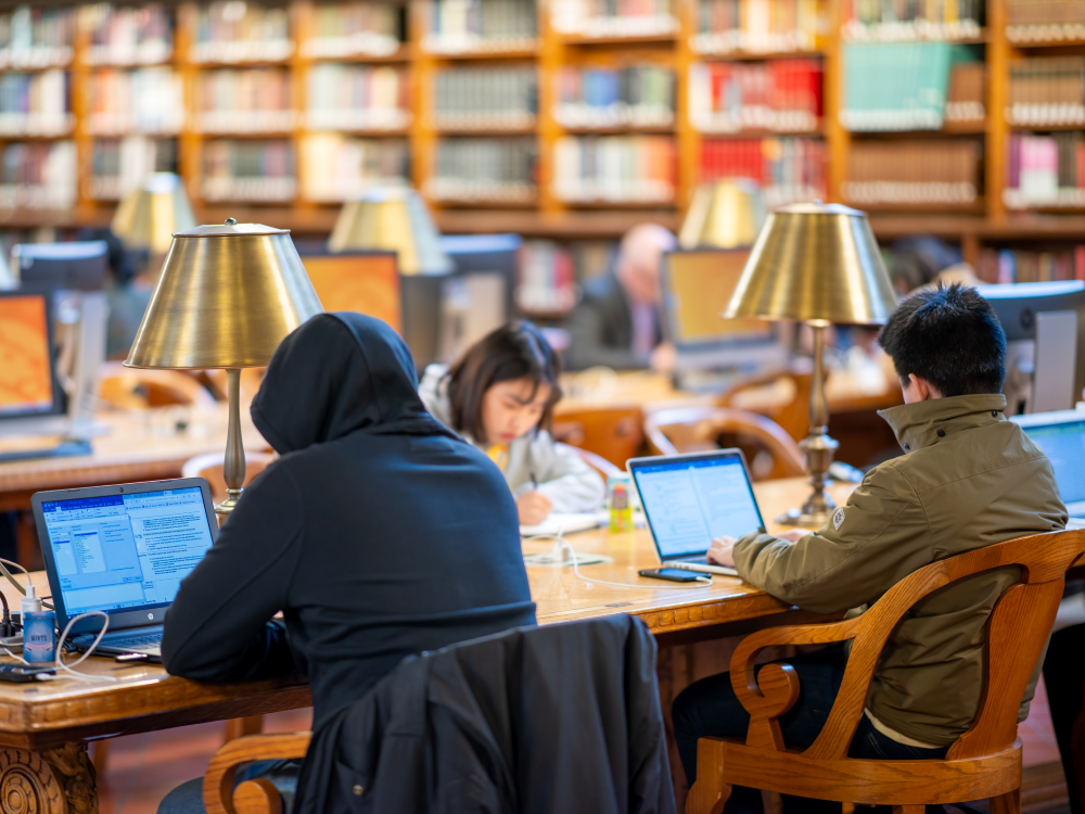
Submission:
{"label": "dark blue jeans of the olive-jacketed man, seen through his chair", "polygon": [[[843,645],[831,645],[783,662],[791,664],[799,674],[799,700],[787,714],[780,716],[780,730],[789,747],[806,749],[817,739],[829,716],[844,679],[847,656]],[[757,670],[760,672],[761,667]],[[689,685],[675,699],[672,717],[678,754],[691,786],[697,779],[698,738],[741,738],[750,726],[750,713],[735,695],[729,673]],[[864,715],[847,755],[870,760],[931,760],[944,758],[947,751],[948,747],[918,749],[897,743],[875,729]],[[783,794],[783,810],[784,814],[840,814],[840,803]],[[928,806],[928,814],[932,814],[932,810],[941,811],[941,806]],[[735,786],[724,811],[725,814],[762,814],[761,792]]]}

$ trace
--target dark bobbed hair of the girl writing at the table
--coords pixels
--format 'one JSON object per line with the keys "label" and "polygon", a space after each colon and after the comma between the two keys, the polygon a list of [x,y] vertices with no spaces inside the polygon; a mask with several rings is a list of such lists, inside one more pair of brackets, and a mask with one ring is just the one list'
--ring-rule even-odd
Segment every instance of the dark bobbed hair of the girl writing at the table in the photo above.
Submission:
{"label": "dark bobbed hair of the girl writing at the table", "polygon": [[536,431],[549,427],[553,406],[561,399],[561,359],[542,331],[531,322],[510,322],[487,334],[463,354],[448,371],[448,400],[452,429],[482,441],[482,397],[498,382],[531,379],[532,398],[540,384],[550,385],[542,418]]}

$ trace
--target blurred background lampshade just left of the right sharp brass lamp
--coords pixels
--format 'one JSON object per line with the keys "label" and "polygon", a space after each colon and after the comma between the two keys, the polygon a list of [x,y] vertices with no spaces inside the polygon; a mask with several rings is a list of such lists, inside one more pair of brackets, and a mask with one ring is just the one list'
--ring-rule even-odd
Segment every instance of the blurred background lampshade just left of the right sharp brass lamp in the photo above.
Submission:
{"label": "blurred background lampshade just left of the right sharp brass lamp", "polygon": [[765,222],[761,189],[748,178],[702,183],[678,232],[682,249],[750,246]]}

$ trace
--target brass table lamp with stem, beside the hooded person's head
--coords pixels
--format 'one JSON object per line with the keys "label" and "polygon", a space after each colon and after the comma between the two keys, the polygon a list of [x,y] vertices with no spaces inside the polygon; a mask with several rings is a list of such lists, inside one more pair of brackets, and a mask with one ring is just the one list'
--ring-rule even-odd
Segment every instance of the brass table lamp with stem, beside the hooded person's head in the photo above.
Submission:
{"label": "brass table lamp with stem, beside the hooded person's head", "polygon": [[245,485],[241,368],[267,365],[286,334],[322,310],[289,229],[229,218],[173,236],[125,367],[226,368],[228,497],[219,514],[233,510]]}

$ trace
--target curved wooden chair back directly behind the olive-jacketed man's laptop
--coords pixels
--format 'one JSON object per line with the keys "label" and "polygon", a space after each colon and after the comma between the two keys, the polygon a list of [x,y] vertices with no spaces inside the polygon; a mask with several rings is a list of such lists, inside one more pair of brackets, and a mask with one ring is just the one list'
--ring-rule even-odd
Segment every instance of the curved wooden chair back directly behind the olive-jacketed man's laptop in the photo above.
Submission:
{"label": "curved wooden chair back directly behind the olive-jacketed man's laptop", "polygon": [[[644,419],[648,445],[656,455],[677,455],[717,449],[717,438],[735,434],[753,438],[773,457],[768,478],[797,478],[805,474],[802,450],[771,419],[724,407],[676,407],[653,412]],[[754,480],[764,480],[754,472]]]}

